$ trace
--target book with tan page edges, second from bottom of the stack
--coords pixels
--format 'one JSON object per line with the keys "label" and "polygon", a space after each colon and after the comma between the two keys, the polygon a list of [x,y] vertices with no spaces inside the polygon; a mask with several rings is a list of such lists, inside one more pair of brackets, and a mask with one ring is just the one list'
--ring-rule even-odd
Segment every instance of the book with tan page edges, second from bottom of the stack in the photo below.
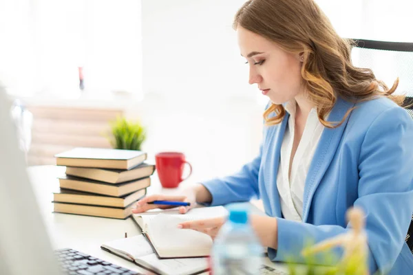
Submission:
{"label": "book with tan page edges, second from bottom of the stack", "polygon": [[104,195],[61,188],[56,192],[53,192],[53,201],[125,208],[129,206],[129,204],[145,197],[146,192],[147,189],[143,188],[123,197],[107,197]]}

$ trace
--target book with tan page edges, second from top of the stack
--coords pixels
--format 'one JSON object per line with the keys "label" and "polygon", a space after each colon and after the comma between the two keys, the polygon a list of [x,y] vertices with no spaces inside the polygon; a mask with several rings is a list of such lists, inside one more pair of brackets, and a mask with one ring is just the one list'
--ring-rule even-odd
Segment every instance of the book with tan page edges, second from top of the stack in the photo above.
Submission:
{"label": "book with tan page edges, second from top of the stack", "polygon": [[155,165],[140,164],[130,170],[120,169],[103,169],[103,168],[86,168],[86,167],[66,167],[66,175],[83,177],[85,179],[94,179],[104,181],[109,184],[120,184],[133,179],[149,177],[155,171]]}

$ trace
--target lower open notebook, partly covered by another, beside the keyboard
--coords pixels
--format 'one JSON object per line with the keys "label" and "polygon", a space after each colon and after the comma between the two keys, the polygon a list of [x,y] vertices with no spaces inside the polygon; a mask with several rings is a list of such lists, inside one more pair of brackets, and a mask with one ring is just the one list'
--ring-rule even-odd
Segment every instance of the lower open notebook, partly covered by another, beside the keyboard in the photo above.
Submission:
{"label": "lower open notebook, partly covered by another, beside the keyboard", "polygon": [[156,274],[189,275],[208,270],[207,258],[158,259],[143,235],[109,241],[100,248]]}

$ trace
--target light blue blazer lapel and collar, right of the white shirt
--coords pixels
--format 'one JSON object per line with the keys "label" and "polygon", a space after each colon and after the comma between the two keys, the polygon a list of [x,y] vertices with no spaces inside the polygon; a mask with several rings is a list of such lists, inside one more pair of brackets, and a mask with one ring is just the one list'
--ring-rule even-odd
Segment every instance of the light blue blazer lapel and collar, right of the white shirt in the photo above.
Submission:
{"label": "light blue blazer lapel and collar, right of the white shirt", "polygon": [[[328,121],[340,122],[348,109],[353,106],[354,103],[338,98],[335,107],[333,107],[330,115],[328,116]],[[313,160],[308,170],[306,185],[304,186],[302,217],[304,222],[306,222],[308,218],[311,199],[313,199],[315,190],[317,190],[317,186],[326,173],[326,170],[332,161],[332,157],[334,157],[335,152],[337,151],[337,147],[339,146],[341,136],[346,128],[349,117],[350,115],[348,115],[343,124],[335,129],[324,128],[323,133],[321,134],[319,144],[317,145],[317,149],[315,150]]]}

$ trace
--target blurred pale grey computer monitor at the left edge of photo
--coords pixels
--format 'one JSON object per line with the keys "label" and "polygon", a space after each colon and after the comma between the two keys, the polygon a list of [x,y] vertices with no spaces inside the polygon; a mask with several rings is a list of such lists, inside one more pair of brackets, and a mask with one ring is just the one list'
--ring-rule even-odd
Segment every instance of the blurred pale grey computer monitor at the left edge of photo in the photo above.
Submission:
{"label": "blurred pale grey computer monitor at the left edge of photo", "polygon": [[0,83],[0,274],[60,274]]}

